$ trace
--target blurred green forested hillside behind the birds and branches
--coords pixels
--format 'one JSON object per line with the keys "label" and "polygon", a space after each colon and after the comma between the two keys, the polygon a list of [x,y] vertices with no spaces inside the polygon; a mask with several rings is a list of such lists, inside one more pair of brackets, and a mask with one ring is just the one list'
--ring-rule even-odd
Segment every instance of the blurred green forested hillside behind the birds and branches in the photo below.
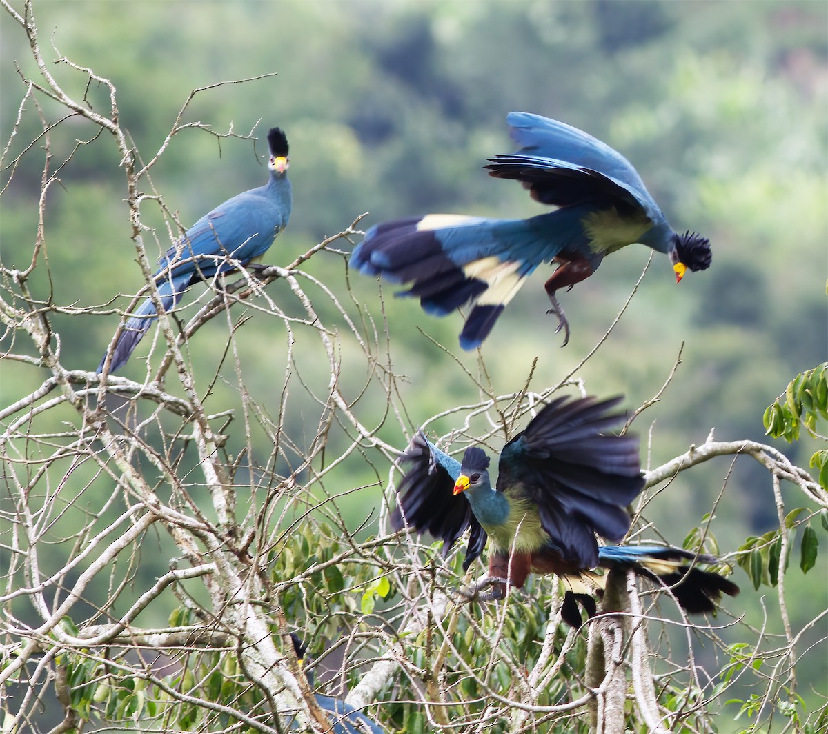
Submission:
{"label": "blurred green forested hillside behind the birds and branches", "polygon": [[[240,133],[258,125],[259,137],[272,125],[286,130],[294,208],[266,262],[291,261],[365,212],[362,228],[431,212],[539,213],[520,186],[491,179],[481,167],[489,156],[513,149],[505,125],[511,110],[561,119],[622,151],[673,226],[710,237],[714,252],[709,271],[678,286],[667,259],[656,257],[598,356],[577,373],[590,393],[623,393],[626,404],[636,406],[662,386],[681,350],[669,399],[637,424],[639,433],[645,432],[641,425],[654,425],[652,440],[645,436],[647,466],[703,442],[713,427],[719,439],[771,441],[763,437],[765,408],[798,372],[826,359],[824,2],[43,2],[37,11],[46,57],[58,55],[49,47],[54,43],[60,55],[111,79],[120,122],[147,158],[192,89],[277,72],[205,91],[186,113],[187,120],[219,132],[231,125]],[[21,91],[15,62],[31,74],[31,58],[5,14],[0,41],[0,89],[4,100],[13,99]],[[80,95],[83,84],[79,75]],[[106,94],[89,89],[90,98],[105,100]],[[2,104],[4,142],[16,114],[15,104]],[[77,124],[84,137],[84,123]],[[21,139],[36,137],[36,130],[36,120],[24,120]],[[67,156],[75,139],[57,136],[52,145]],[[219,146],[194,128],[174,138],[152,181],[187,225],[265,175],[249,143],[231,138]],[[55,301],[94,305],[137,292],[142,276],[116,149],[95,140],[60,181],[49,194],[46,219]],[[26,247],[17,261],[17,243],[31,241],[40,187],[40,171],[21,166],[4,192],[4,266],[22,267],[31,258]],[[161,216],[147,209],[147,221],[158,227],[159,251],[166,249]],[[307,270],[333,290],[344,286],[344,259],[322,254],[330,257],[315,257]],[[645,247],[630,247],[562,295],[573,331],[562,349],[554,319],[545,313],[541,286],[548,271],[541,268],[482,349],[494,389],[521,390],[536,359],[537,385],[569,374],[609,328],[649,256]],[[272,299],[282,287],[269,286]],[[349,287],[357,300],[378,302],[373,280],[352,273]],[[476,400],[479,392],[462,367],[476,372],[478,357],[456,346],[460,316],[434,319],[415,301],[390,297],[388,287],[383,294],[393,364],[408,377],[397,389],[408,401],[410,426]],[[335,321],[336,314],[325,318]],[[64,364],[91,370],[117,318],[56,314],[54,322],[63,336]],[[191,341],[196,372],[200,365],[205,374],[215,370],[224,341],[210,333],[226,329],[216,319]],[[253,313],[245,324],[238,348],[252,392],[267,395],[272,365],[282,370],[285,340],[281,322]],[[435,342],[457,362],[447,362]],[[139,348],[126,373],[142,372],[147,350]],[[303,379],[314,381],[316,368],[312,359],[303,362]],[[20,365],[0,369],[2,405],[38,384]],[[225,378],[214,382],[214,411],[238,400],[233,375]],[[354,385],[362,379],[342,375]],[[273,405],[279,400],[277,389]],[[286,432],[301,436],[301,405],[286,418]],[[453,428],[450,419],[440,426]],[[405,444],[392,422],[378,434],[401,449]],[[777,446],[801,466],[815,450],[808,441]],[[262,456],[272,451],[265,434],[255,434],[251,448]],[[366,537],[376,532],[373,508],[383,501],[383,487],[373,468],[357,459],[339,473],[341,486],[326,491],[373,483],[339,503],[344,521]],[[728,466],[726,459],[700,466],[652,501],[649,518],[667,541],[681,544],[720,493],[711,529],[723,551],[778,525],[763,469],[739,462],[727,473]],[[163,553],[147,554],[140,574],[155,578],[167,566]],[[790,612],[802,620],[828,606],[825,553],[811,573],[797,570],[787,587],[797,599]],[[754,592],[740,570],[735,578],[744,591],[729,602],[731,610],[761,626],[768,589]],[[817,587],[813,578],[820,579]],[[163,610],[155,613],[159,623],[166,619]],[[812,631],[822,650],[826,635],[823,617]],[[826,679],[825,655],[802,665],[802,679]],[[816,695],[807,686],[801,694]]]}

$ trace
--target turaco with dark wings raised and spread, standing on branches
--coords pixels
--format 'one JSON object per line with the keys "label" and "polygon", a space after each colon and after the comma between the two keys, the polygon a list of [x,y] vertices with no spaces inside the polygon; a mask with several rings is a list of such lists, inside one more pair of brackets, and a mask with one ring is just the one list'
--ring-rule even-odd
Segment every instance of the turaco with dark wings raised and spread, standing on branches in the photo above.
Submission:
{"label": "turaco with dark wings raised and spread, standing on branches", "polygon": [[[614,541],[627,534],[625,507],[644,486],[638,437],[605,433],[623,423],[624,414],[613,411],[622,400],[551,401],[503,446],[496,488],[482,449],[469,447],[460,463],[418,431],[401,457],[410,468],[398,487],[392,527],[427,530],[443,540],[444,556],[470,530],[464,570],[488,536],[489,577],[463,592],[469,599],[501,599],[509,587],[522,588],[529,573],[556,573],[570,588],[599,590],[602,578],[592,569],[620,567],[669,586],[687,612],[712,612],[722,592],[739,592],[718,573],[694,565],[715,564],[714,557],[667,545],[596,540],[596,533]],[[562,616],[575,627],[582,622],[579,602],[590,616],[595,613],[588,594],[567,591]]]}

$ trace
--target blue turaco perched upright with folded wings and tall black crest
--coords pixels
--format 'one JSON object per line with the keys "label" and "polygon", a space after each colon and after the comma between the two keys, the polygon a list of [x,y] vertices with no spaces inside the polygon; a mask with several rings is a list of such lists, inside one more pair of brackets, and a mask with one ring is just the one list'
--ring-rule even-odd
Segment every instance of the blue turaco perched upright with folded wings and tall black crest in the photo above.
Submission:
{"label": "blue turaco perched upright with folded wings and tall black crest", "polygon": [[[258,189],[233,196],[205,214],[161,257],[155,275],[164,310],[181,300],[190,285],[248,266],[267,252],[291,216],[291,182],[287,178],[287,137],[278,127],[267,133],[270,178]],[[98,367],[109,372],[123,367],[158,318],[152,299],[147,298],[117,334]],[[111,355],[111,357],[110,357]]]}

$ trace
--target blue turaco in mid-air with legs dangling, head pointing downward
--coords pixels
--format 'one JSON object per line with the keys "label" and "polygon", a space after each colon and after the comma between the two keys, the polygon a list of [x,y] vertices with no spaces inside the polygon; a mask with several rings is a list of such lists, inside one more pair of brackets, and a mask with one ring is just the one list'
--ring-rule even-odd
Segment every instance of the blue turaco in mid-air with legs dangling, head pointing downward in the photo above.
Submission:
{"label": "blue turaco in mid-air with legs dangling, head pointing downward", "polygon": [[595,137],[531,113],[509,113],[520,146],[495,156],[489,175],[517,179],[532,199],[556,210],[528,219],[486,219],[429,214],[377,224],[354,248],[350,264],[371,276],[410,283],[400,295],[416,296],[429,314],[472,309],[460,346],[474,349],[523,281],[542,262],[556,262],[546,281],[558,331],[569,324],[556,291],[591,276],[604,256],[641,242],[670,257],[681,281],[687,270],[710,266],[710,241],[676,233],[632,164]]}

